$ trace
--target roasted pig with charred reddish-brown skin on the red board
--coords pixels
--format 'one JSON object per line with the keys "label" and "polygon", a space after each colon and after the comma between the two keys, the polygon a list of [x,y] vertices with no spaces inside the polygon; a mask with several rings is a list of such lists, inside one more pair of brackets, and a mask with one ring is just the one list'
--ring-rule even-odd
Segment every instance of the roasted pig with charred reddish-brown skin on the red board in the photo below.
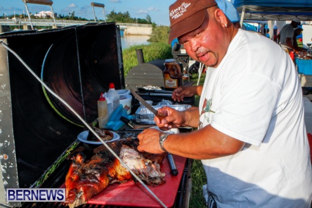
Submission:
{"label": "roasted pig with charred reddish-brown skin on the red board", "polygon": [[[165,183],[166,174],[160,171],[164,154],[138,152],[136,138],[107,144],[142,181],[149,185]],[[104,145],[96,148],[93,153],[88,161],[83,153],[75,153],[72,156],[72,163],[65,179],[65,203],[70,208],[87,203],[92,196],[104,190],[109,184],[133,179],[130,172]]]}

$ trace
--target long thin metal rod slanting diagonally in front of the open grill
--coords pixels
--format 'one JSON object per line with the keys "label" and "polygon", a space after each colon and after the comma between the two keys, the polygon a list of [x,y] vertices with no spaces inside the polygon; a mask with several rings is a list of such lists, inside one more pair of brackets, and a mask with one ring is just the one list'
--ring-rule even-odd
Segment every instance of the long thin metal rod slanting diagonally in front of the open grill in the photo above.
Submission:
{"label": "long thin metal rod slanting diagonally in front of the open grill", "polygon": [[99,134],[68,104],[66,103],[61,97],[55,94],[32,70],[31,68],[25,63],[25,61],[15,52],[13,51],[4,41],[0,41],[0,44],[3,45],[7,50],[9,50],[13,55],[15,55],[19,61],[27,68],[27,70],[41,83],[41,85],[49,91],[54,97],[56,97],[61,103],[63,103],[71,112],[73,112],[84,124],[85,126],[103,143],[103,145],[119,160],[119,162],[128,169],[131,175],[165,208],[167,206],[159,199],[147,186],[146,184],[119,158],[119,156],[102,140]]}

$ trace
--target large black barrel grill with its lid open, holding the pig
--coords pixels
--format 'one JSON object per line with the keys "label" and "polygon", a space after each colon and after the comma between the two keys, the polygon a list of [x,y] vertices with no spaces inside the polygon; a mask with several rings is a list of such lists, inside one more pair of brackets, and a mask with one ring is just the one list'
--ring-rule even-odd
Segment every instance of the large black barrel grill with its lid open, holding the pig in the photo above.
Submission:
{"label": "large black barrel grill with its lid open, holding the pig", "polygon": [[[125,89],[119,32],[115,23],[94,23],[2,33],[0,40],[92,123],[97,118],[99,95],[108,91],[109,83],[113,82],[116,89]],[[7,203],[6,188],[59,187],[69,165],[64,158],[83,145],[76,136],[84,126],[3,46],[0,74],[0,206],[62,207],[57,203]],[[189,163],[180,184],[177,207],[187,203]]]}

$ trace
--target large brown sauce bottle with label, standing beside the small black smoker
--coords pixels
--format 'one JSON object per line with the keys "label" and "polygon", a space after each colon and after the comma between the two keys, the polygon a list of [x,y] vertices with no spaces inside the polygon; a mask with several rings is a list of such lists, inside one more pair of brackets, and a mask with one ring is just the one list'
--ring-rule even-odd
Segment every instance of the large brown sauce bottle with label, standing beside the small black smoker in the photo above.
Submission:
{"label": "large brown sauce bottle with label, standing beside the small black smoker", "polygon": [[181,74],[181,67],[175,59],[165,60],[164,71],[165,90],[171,90],[183,86],[183,76]]}

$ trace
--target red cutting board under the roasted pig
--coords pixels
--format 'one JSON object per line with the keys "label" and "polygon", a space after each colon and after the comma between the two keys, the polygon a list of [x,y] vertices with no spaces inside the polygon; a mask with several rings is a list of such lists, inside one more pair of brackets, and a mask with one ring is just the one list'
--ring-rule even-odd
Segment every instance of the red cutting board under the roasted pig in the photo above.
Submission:
{"label": "red cutting board under the roasted pig", "polygon": [[[147,187],[167,206],[174,205],[186,158],[174,155],[178,175],[170,174],[170,167],[167,157],[161,165],[161,172],[166,173],[166,183],[159,186]],[[93,196],[88,203],[117,205],[117,206],[137,206],[137,207],[163,207],[139,182],[132,180],[122,184],[109,185],[105,190]]]}

